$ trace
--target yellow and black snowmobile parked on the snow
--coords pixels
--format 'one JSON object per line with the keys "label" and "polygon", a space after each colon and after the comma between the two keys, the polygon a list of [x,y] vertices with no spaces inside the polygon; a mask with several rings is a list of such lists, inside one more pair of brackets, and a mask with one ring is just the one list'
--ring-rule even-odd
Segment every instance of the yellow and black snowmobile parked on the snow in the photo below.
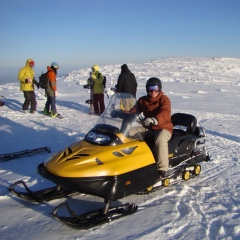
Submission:
{"label": "yellow and black snowmobile parked on the snow", "polygon": [[[201,171],[200,162],[208,161],[205,132],[197,119],[189,114],[172,116],[173,136],[169,141],[170,169],[160,179],[154,158],[150,132],[142,131],[144,116],[126,113],[136,100],[131,94],[115,93],[96,125],[84,139],[68,146],[38,166],[38,173],[56,183],[55,188],[31,191],[24,182],[16,182],[9,190],[28,201],[46,201],[71,193],[85,193],[104,199],[102,209],[77,215],[66,203],[60,204],[52,215],[73,228],[88,228],[132,214],[134,203],[111,208],[112,201],[131,194],[150,192],[180,179],[188,180]],[[141,131],[140,131],[141,130]],[[17,191],[23,184],[26,192]],[[60,216],[66,208],[69,216]]]}

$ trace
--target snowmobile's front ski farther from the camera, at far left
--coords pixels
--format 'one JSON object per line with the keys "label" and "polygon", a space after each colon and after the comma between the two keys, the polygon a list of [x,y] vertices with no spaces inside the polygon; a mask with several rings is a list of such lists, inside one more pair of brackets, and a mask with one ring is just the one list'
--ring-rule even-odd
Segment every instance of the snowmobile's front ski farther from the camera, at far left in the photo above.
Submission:
{"label": "snowmobile's front ski farther from the camera, at far left", "polygon": [[[19,185],[22,185],[25,192],[17,191],[15,188]],[[58,198],[64,198],[69,195],[75,194],[75,192],[62,188],[60,186],[55,186],[51,188],[46,188],[39,191],[32,191],[28,188],[26,183],[24,181],[18,181],[12,184],[8,190],[16,195],[17,197],[27,201],[27,202],[35,202],[35,203],[41,203],[41,202],[47,202]]]}

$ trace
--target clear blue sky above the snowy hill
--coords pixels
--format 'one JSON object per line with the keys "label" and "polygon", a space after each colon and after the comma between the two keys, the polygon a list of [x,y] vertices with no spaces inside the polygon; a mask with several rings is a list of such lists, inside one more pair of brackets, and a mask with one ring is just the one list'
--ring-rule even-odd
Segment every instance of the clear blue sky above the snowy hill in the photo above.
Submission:
{"label": "clear blue sky above the snowy hill", "polygon": [[0,67],[240,58],[239,0],[0,0]]}

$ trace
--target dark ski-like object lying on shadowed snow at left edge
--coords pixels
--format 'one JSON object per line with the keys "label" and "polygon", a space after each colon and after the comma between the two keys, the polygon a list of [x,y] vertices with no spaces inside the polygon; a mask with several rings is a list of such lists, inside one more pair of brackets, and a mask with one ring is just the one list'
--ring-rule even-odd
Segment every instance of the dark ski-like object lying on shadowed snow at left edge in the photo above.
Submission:
{"label": "dark ski-like object lying on shadowed snow at left edge", "polygon": [[20,158],[20,157],[31,156],[31,155],[42,153],[42,152],[50,153],[51,150],[49,147],[41,147],[41,148],[34,148],[34,149],[26,149],[19,152],[0,154],[0,162],[5,162],[15,158]]}

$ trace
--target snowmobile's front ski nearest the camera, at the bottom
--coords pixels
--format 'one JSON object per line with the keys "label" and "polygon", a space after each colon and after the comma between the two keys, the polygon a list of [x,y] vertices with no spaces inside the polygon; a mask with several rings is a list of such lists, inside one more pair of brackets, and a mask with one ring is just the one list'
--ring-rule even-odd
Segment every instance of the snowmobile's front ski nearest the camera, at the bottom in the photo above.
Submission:
{"label": "snowmobile's front ski nearest the camera, at the bottom", "polygon": [[[58,215],[58,211],[61,208],[67,209],[69,217]],[[106,213],[104,213],[105,209],[97,209],[81,215],[77,215],[67,203],[62,203],[53,209],[52,216],[69,227],[75,229],[88,229],[103,223],[111,222],[126,215],[133,214],[137,211],[137,209],[138,206],[136,204],[126,203],[120,207],[109,208]]]}

